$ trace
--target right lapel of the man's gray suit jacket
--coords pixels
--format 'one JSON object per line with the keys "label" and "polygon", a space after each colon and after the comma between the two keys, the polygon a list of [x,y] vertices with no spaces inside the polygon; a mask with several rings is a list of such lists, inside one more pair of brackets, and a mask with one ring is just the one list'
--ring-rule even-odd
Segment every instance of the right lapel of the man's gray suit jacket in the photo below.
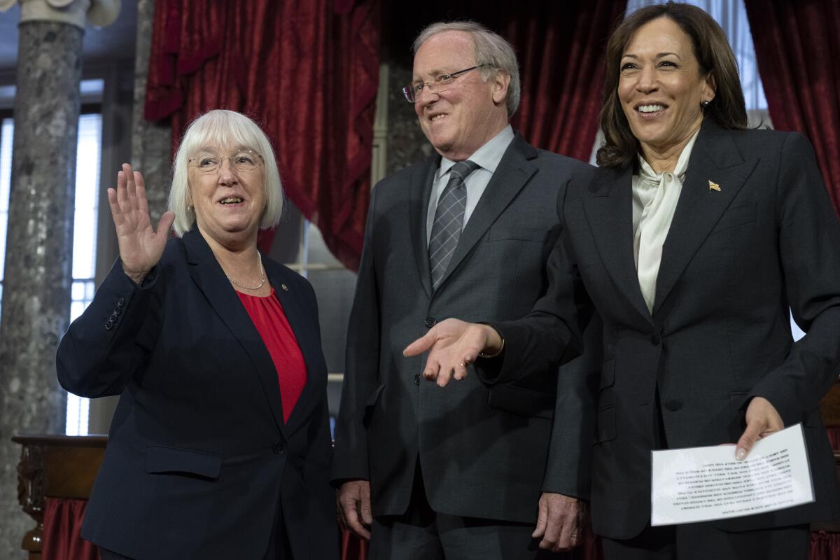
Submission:
{"label": "right lapel of the man's gray suit jacket", "polygon": [[[528,144],[518,134],[513,137],[511,145],[507,147],[505,154],[501,157],[496,172],[475,210],[466,223],[464,231],[458,240],[458,246],[449,261],[446,274],[441,280],[438,290],[444,287],[449,276],[454,274],[462,260],[475,247],[475,243],[486,233],[501,212],[504,212],[507,205],[517,196],[522,187],[537,172],[537,166],[529,160],[537,157],[537,150]],[[425,229],[424,229],[425,231]],[[428,260],[428,259],[427,259]]]}

